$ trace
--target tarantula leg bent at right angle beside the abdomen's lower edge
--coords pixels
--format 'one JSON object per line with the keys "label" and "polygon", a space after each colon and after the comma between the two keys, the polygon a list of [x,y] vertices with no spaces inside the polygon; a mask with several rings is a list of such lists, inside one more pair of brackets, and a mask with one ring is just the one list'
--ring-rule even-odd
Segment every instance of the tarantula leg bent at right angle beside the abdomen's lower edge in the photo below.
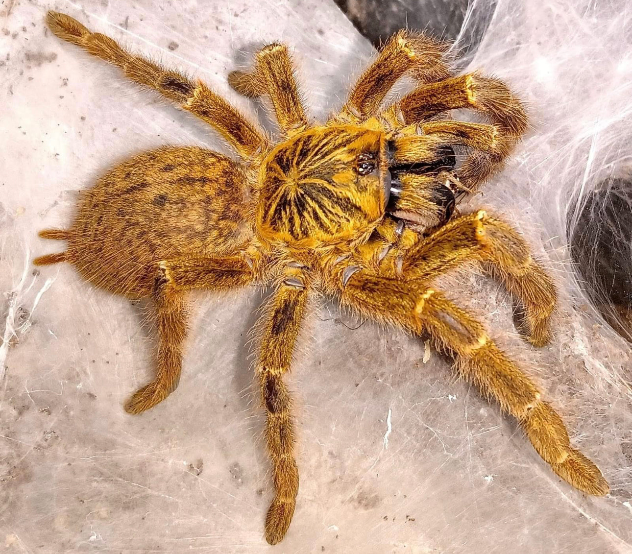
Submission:
{"label": "tarantula leg bent at right angle beside the abdomen's lower edge", "polygon": [[253,280],[248,263],[238,256],[165,260],[156,268],[152,298],[158,330],[155,379],[140,388],[125,405],[130,414],[140,414],[166,399],[180,380],[182,351],[186,339],[188,308],[186,292],[191,289],[228,291]]}

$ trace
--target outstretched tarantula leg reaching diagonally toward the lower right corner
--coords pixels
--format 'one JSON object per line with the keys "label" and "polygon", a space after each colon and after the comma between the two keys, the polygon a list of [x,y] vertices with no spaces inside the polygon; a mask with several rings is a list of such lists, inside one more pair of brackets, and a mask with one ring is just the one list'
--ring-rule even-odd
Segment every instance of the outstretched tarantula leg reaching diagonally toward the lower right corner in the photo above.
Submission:
{"label": "outstretched tarantula leg reaching diagonally toward the lower right corner", "polygon": [[571,447],[562,419],[540,399],[536,385],[470,313],[419,281],[375,277],[361,271],[349,276],[342,270],[332,279],[343,304],[414,335],[428,332],[437,347],[454,356],[461,375],[518,419],[535,450],[562,479],[588,494],[609,491],[597,466]]}

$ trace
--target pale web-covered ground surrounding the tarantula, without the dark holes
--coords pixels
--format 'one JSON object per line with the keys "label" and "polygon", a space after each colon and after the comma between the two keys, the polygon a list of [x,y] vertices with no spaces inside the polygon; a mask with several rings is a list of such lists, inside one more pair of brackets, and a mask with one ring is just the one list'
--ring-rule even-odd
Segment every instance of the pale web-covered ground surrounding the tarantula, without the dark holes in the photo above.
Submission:
{"label": "pale web-covered ground surrounding the tarantula, without the dark holes", "polygon": [[[16,552],[272,551],[262,536],[272,491],[247,344],[262,292],[197,296],[177,392],[129,416],[123,402],[152,375],[142,308],[84,284],[69,266],[30,265],[63,248],[37,230],[67,226],[76,191],[118,160],[162,144],[221,144],[52,37],[44,14],[66,11],[204,78],[251,114],[226,74],[256,45],[295,47],[320,118],[341,105],[371,47],[316,0],[82,6],[5,0],[0,11],[0,539]],[[632,551],[630,348],[581,294],[564,224],[573,191],[626,162],[631,12],[624,0],[497,4],[471,67],[511,81],[530,103],[533,131],[471,205],[515,219],[556,275],[556,339],[544,349],[521,342],[506,293],[476,275],[449,291],[542,383],[611,495],[586,497],[560,481],[447,361],[432,352],[423,362],[423,342],[316,306],[289,378],[298,507],[274,551]]]}

